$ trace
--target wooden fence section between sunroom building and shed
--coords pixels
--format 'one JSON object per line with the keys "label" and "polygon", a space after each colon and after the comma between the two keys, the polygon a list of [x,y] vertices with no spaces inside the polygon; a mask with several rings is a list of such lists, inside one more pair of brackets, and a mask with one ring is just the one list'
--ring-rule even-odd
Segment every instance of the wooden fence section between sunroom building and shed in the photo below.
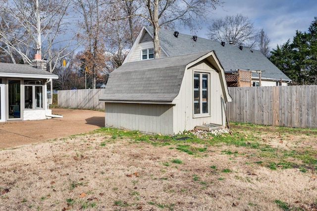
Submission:
{"label": "wooden fence section between sunroom building and shed", "polygon": [[105,103],[99,102],[99,97],[105,89],[78,89],[57,91],[59,107],[105,109]]}

